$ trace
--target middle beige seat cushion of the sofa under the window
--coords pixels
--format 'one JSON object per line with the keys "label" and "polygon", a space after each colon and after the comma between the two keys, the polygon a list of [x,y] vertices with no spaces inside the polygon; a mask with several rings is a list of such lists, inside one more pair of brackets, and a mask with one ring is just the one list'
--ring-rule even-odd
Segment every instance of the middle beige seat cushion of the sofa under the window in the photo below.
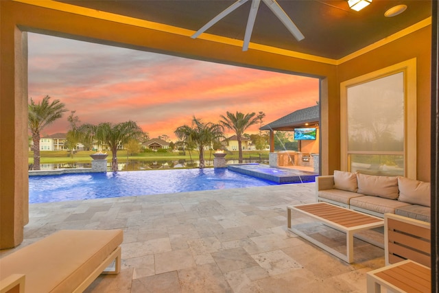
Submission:
{"label": "middle beige seat cushion of the sofa under the window", "polygon": [[395,209],[410,205],[407,202],[380,198],[379,196],[359,196],[358,198],[351,198],[350,204],[351,209],[359,207],[361,209],[368,209],[369,211],[383,214],[395,213]]}

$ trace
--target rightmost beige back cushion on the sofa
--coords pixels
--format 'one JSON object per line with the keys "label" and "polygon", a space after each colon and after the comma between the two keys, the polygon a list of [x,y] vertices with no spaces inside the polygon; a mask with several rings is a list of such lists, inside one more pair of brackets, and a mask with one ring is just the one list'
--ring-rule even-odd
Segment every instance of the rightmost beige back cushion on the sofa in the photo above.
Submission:
{"label": "rightmost beige back cushion on the sofa", "polygon": [[430,183],[398,177],[399,198],[401,202],[430,207]]}

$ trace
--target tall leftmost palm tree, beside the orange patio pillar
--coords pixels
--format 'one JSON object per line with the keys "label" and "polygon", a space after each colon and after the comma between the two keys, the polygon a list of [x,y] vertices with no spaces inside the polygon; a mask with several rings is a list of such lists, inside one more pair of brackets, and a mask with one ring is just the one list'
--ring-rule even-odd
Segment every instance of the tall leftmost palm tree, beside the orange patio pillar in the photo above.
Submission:
{"label": "tall leftmost palm tree, beside the orange patio pillar", "polygon": [[65,105],[59,99],[49,102],[50,97],[46,95],[36,104],[32,97],[27,104],[28,120],[27,126],[32,133],[34,141],[34,169],[40,169],[40,133],[46,126],[53,123],[56,119],[62,117],[62,113],[66,112]]}

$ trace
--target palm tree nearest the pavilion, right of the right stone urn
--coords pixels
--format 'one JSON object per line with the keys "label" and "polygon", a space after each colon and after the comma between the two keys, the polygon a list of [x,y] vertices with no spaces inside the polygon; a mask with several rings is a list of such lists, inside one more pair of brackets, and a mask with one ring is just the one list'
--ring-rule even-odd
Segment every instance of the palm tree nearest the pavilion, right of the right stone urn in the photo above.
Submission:
{"label": "palm tree nearest the pavilion, right of the right stone urn", "polygon": [[244,131],[253,124],[257,124],[258,117],[254,117],[256,113],[248,113],[244,115],[241,112],[236,112],[236,114],[230,113],[227,111],[227,115],[221,115],[222,120],[220,123],[226,128],[233,130],[236,134],[236,139],[238,141],[238,149],[239,149],[239,163],[242,163],[242,138]]}

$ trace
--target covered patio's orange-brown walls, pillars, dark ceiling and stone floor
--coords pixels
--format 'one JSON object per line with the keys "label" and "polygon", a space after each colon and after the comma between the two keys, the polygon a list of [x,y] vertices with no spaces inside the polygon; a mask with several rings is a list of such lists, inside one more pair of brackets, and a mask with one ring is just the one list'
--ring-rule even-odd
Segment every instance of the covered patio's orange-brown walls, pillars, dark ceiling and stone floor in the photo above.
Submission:
{"label": "covered patio's orange-brown walls, pillars, dark ceiling and stone floor", "polygon": [[[410,14],[387,19],[383,13],[394,1],[373,1],[358,14],[346,1],[279,1],[302,23],[305,42],[287,42],[289,32],[267,17],[270,24],[257,25],[261,34],[242,51],[236,27],[245,27],[248,10],[235,14],[233,25],[191,38],[230,2],[0,1],[0,249],[19,249],[61,228],[123,228],[123,272],[97,279],[88,288],[95,292],[287,292],[292,285],[364,292],[364,272],[383,266],[381,248],[358,253],[351,266],[285,232],[285,207],[315,200],[313,183],[29,206],[27,32],[36,32],[319,78],[321,175],[348,169],[347,87],[410,68],[404,172],[431,182],[431,255],[437,258],[438,2],[401,1],[413,8]],[[437,266],[432,261],[433,290]]]}

